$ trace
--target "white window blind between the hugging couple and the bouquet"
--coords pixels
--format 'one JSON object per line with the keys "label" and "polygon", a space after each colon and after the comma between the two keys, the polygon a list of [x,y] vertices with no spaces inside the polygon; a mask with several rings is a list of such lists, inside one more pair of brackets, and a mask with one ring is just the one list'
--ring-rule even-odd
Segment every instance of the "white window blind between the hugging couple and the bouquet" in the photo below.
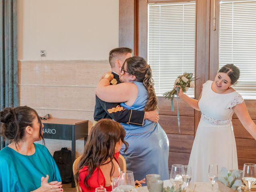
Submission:
{"label": "white window blind between the hugging couple and the bouquet", "polygon": [[[195,1],[148,4],[148,64],[158,96],[195,71]],[[188,90],[194,97],[194,89]]]}

